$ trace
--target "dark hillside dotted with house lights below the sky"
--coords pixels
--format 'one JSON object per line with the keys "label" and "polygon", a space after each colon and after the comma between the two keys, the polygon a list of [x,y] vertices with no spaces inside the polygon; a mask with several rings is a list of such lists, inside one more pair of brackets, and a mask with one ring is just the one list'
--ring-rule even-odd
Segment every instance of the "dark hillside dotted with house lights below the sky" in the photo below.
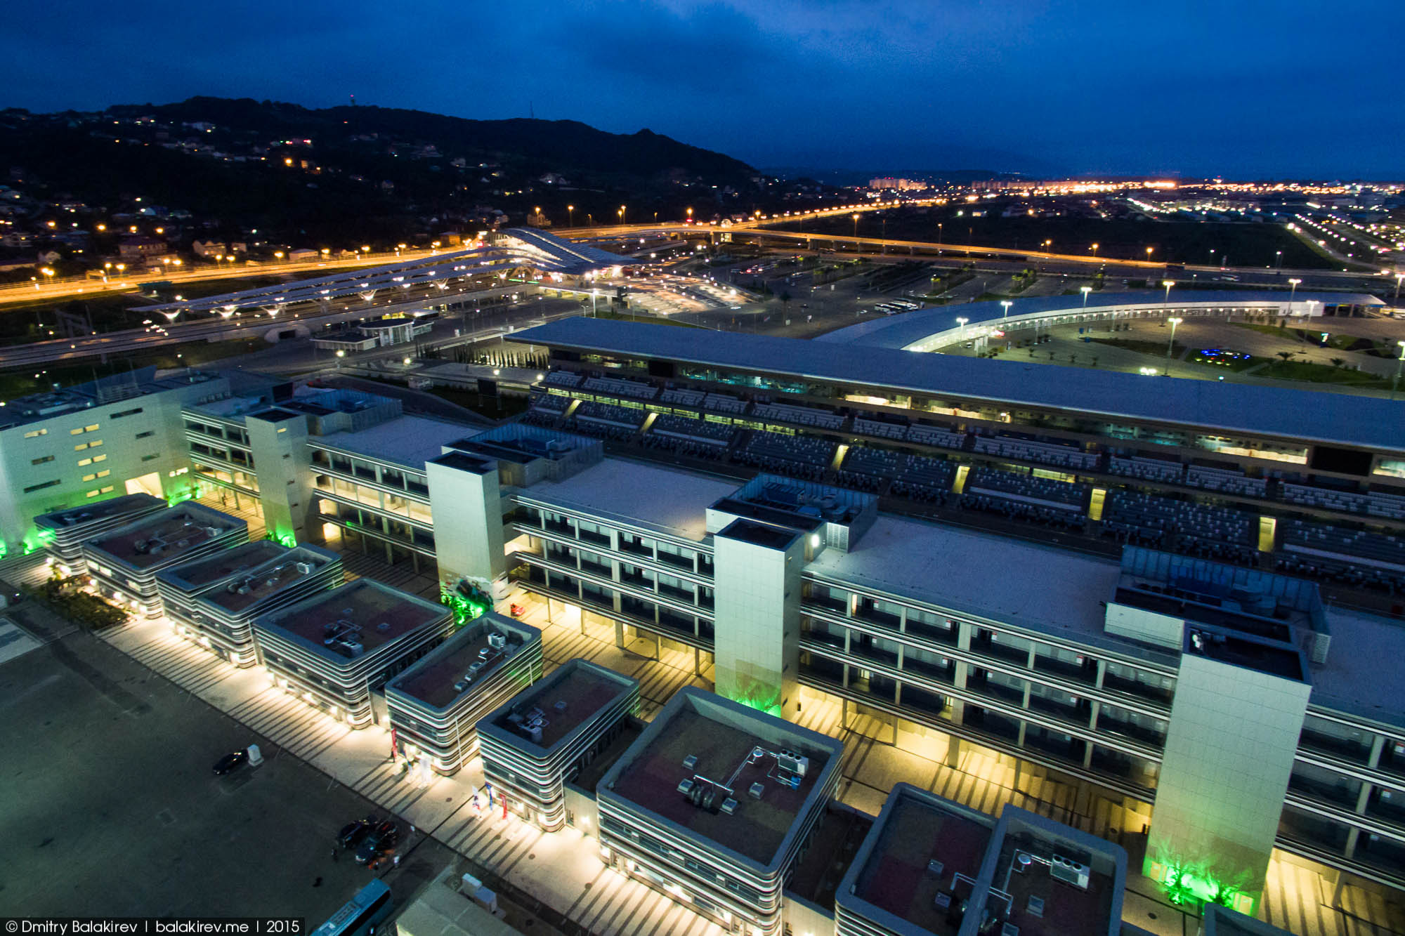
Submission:
{"label": "dark hillside dotted with house lights below the sky", "polygon": [[[187,243],[226,239],[361,243],[523,223],[542,208],[613,222],[745,208],[750,166],[642,129],[576,121],[473,121],[379,107],[309,110],[194,97],[98,114],[0,111],[0,167],[35,204],[97,215],[173,211]],[[188,218],[187,218],[188,212]],[[201,233],[204,232],[204,233]]]}

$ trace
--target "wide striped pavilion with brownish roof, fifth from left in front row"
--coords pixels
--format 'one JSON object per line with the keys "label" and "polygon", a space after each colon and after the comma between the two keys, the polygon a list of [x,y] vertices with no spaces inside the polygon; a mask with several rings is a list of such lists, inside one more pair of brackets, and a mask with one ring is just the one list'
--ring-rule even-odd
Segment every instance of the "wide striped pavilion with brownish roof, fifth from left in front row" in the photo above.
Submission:
{"label": "wide striped pavilion with brownish roof, fifth from left in front row", "polygon": [[347,582],[254,621],[259,656],[275,684],[365,728],[371,691],[454,630],[443,604],[371,579]]}

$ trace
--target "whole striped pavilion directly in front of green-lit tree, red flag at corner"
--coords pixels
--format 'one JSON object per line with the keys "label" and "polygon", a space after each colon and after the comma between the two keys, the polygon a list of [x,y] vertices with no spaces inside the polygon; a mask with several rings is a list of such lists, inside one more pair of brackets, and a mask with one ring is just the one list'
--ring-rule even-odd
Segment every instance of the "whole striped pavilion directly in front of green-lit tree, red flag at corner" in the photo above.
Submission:
{"label": "whole striped pavilion directly in front of green-lit tree, red flag at corner", "polygon": [[488,611],[385,686],[406,760],[454,774],[478,753],[478,720],[541,679],[541,631]]}

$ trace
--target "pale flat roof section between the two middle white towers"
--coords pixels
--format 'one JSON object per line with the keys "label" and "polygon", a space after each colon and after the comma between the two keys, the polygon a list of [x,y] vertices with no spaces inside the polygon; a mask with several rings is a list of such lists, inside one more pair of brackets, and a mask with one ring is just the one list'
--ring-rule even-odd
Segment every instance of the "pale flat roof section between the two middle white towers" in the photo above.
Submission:
{"label": "pale flat roof section between the two middle white towers", "polygon": [[725,478],[604,458],[562,481],[534,483],[523,493],[700,541],[707,535],[707,506],[733,490],[736,482]]}

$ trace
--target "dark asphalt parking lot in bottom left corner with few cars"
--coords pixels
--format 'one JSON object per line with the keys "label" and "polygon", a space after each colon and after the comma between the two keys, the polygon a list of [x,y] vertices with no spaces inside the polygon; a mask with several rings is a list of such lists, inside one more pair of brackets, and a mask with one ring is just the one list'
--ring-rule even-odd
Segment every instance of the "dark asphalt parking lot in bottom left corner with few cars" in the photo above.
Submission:
{"label": "dark asphalt parking lot in bottom left corner with few cars", "polygon": [[[0,663],[8,914],[287,915],[311,932],[372,877],[332,859],[337,831],[375,812],[364,797],[32,603],[7,614],[49,638]],[[250,742],[261,766],[214,776]],[[400,850],[398,902],[452,860],[433,840]]]}

